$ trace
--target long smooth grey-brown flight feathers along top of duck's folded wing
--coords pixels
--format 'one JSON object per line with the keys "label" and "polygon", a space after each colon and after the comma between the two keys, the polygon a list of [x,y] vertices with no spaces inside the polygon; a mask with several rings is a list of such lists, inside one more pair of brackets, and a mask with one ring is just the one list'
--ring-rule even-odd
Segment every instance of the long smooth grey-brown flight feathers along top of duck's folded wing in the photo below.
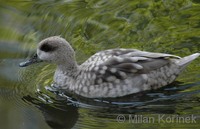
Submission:
{"label": "long smooth grey-brown flight feathers along top of duck's folded wing", "polygon": [[[126,49],[124,49],[126,52]],[[130,50],[127,50],[130,51]],[[116,51],[117,52],[117,51]],[[125,53],[124,52],[124,53]],[[116,68],[119,71],[124,72],[140,72],[147,73],[149,71],[159,69],[164,65],[167,65],[173,61],[173,59],[180,59],[179,56],[164,54],[164,53],[153,53],[146,51],[134,50],[124,54],[118,52],[114,54],[112,58],[102,63],[100,66],[107,66],[108,68]]]}

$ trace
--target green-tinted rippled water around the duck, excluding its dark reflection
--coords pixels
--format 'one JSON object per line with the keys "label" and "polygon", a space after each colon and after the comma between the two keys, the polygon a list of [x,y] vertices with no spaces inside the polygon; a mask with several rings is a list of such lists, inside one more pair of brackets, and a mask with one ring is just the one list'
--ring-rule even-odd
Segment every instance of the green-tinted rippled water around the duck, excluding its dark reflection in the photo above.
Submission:
{"label": "green-tinted rippled water around the duck, excluding its dark reflection", "polygon": [[[100,50],[137,48],[179,56],[200,52],[200,3],[198,0],[57,0],[57,1],[0,1],[0,128],[42,128],[44,122],[34,121],[24,113],[27,109],[20,96],[34,94],[51,84],[53,65],[34,65],[20,69],[20,61],[35,53],[37,43],[52,35],[66,38],[76,50],[79,63]],[[195,60],[178,78],[178,90],[185,93],[175,100],[152,103],[138,114],[152,116],[160,111],[172,114],[199,115],[200,59]],[[6,90],[5,90],[6,89]],[[12,94],[8,94],[11,92]],[[165,90],[164,90],[165,91]],[[165,91],[167,92],[167,91]],[[194,93],[193,93],[194,92]],[[187,94],[191,93],[191,94]],[[12,101],[10,101],[12,100]],[[171,103],[170,103],[171,102]],[[19,106],[22,105],[22,106]],[[162,107],[162,105],[164,105]],[[167,107],[170,105],[170,107]],[[152,106],[152,107],[151,107]],[[14,108],[13,108],[14,107]],[[159,107],[159,108],[158,108]],[[17,110],[15,110],[17,108]],[[28,107],[29,108],[29,107]],[[145,108],[145,109],[146,109]],[[169,108],[169,109],[168,109]],[[163,110],[162,110],[163,109]],[[131,111],[135,109],[130,109]],[[145,110],[146,111],[146,110]],[[31,113],[38,111],[30,111]],[[197,124],[132,124],[117,123],[119,112],[98,112],[80,108],[80,120],[75,128],[197,128]],[[9,117],[6,117],[8,116]],[[11,116],[19,116],[13,122]],[[89,114],[89,115],[87,115]],[[99,116],[100,114],[100,116]],[[127,115],[127,114],[125,114]],[[4,120],[5,116],[5,120]],[[31,120],[27,120],[31,117]],[[27,120],[29,124],[23,121]]]}

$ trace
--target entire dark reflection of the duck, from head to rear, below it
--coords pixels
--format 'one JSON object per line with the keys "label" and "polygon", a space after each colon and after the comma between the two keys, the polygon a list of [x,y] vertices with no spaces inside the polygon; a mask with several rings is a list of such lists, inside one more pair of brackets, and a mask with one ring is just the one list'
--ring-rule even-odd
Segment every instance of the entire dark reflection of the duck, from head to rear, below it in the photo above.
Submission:
{"label": "entire dark reflection of the duck, from head to rear, below it", "polygon": [[[81,96],[60,95],[58,92],[51,91],[57,94],[56,98],[39,93],[34,97],[24,96],[23,100],[38,107],[42,111],[46,123],[52,129],[70,129],[79,117],[77,106],[88,110],[92,109],[90,115],[94,118],[102,117],[102,114],[104,118],[110,118],[116,114],[140,114],[144,112],[174,114],[176,113],[174,107],[177,104],[177,99],[185,95],[185,93],[179,93],[183,90],[183,86],[180,89],[174,85],[122,98],[88,99]],[[184,89],[189,87],[191,85],[185,85]],[[115,118],[113,119],[115,120]]]}

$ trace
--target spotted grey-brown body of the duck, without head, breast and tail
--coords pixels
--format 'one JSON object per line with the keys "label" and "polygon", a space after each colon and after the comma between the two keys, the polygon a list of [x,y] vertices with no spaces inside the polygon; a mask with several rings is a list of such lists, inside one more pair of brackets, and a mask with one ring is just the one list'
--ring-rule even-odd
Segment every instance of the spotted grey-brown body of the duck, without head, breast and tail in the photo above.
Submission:
{"label": "spotted grey-brown body of the duck, without head, breast and tail", "polygon": [[101,51],[80,66],[76,91],[94,98],[156,89],[175,80],[182,70],[178,64],[181,59],[184,58],[135,49]]}

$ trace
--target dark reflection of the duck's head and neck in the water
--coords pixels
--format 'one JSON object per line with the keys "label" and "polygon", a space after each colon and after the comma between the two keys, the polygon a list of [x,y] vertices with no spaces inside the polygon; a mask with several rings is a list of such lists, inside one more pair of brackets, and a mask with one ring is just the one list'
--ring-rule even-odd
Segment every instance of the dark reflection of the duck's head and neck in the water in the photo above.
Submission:
{"label": "dark reflection of the duck's head and neck in the water", "polygon": [[24,96],[22,100],[34,104],[44,115],[46,123],[52,129],[70,129],[78,119],[78,108],[64,101],[46,104],[37,97]]}

